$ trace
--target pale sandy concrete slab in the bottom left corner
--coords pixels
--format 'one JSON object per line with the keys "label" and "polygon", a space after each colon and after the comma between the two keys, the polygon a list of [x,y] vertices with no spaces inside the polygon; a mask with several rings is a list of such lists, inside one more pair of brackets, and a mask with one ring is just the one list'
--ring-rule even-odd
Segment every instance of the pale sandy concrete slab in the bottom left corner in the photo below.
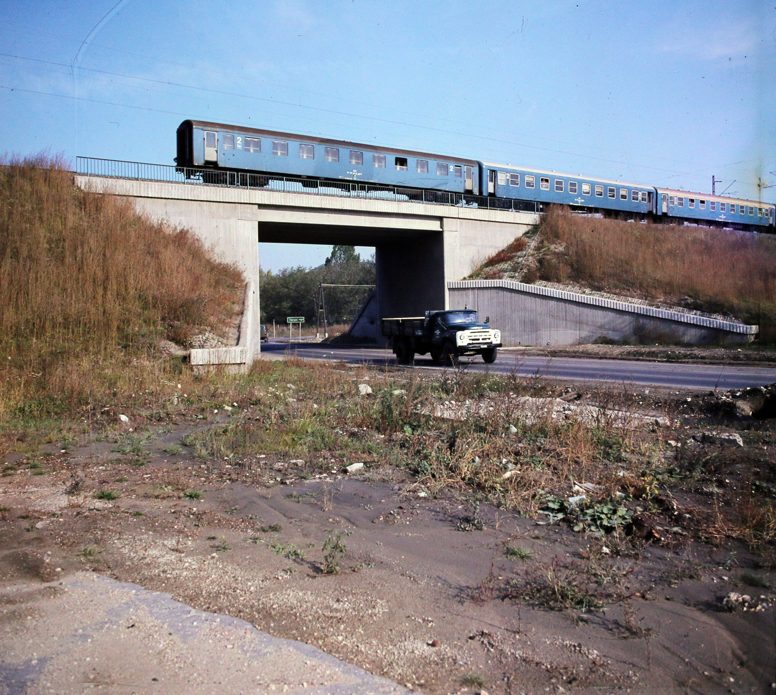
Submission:
{"label": "pale sandy concrete slab in the bottom left corner", "polygon": [[9,587],[0,693],[407,693],[303,642],[90,572]]}

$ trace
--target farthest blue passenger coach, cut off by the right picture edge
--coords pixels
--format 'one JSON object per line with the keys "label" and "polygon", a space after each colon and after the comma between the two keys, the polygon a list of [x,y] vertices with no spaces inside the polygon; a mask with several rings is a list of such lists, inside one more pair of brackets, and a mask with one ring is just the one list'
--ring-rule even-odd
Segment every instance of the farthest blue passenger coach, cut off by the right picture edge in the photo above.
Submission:
{"label": "farthest blue passenger coach, cut off by the right picture edge", "polygon": [[655,188],[656,214],[693,222],[714,222],[717,226],[774,226],[776,205],[772,202],[753,202],[722,195],[704,195],[673,188]]}

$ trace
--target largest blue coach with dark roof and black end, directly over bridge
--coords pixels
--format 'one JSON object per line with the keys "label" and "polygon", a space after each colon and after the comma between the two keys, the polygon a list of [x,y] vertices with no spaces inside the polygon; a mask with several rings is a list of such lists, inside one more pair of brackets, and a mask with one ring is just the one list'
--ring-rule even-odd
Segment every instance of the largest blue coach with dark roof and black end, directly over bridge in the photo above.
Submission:
{"label": "largest blue coach with dark roof and black end, directly over bridge", "polygon": [[223,123],[181,123],[175,161],[178,167],[479,193],[473,160]]}

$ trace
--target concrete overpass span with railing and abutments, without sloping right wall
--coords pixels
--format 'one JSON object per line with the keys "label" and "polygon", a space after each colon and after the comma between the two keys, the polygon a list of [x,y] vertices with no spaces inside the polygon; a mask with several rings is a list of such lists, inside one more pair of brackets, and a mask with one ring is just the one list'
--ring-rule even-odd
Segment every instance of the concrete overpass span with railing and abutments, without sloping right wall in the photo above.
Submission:
{"label": "concrete overpass span with railing and abutments, without sloping right wall", "polygon": [[260,350],[260,241],[374,246],[379,316],[417,316],[426,309],[449,308],[450,282],[468,275],[474,261],[503,248],[538,220],[536,213],[464,201],[410,202],[378,189],[342,195],[333,188],[307,188],[310,182],[300,180],[277,190],[229,185],[228,178],[226,185],[210,185],[158,180],[182,178],[174,167],[93,162],[106,161],[79,158],[78,171],[85,172],[75,175],[80,188],[129,199],[154,220],[187,227],[224,261],[243,269],[255,288],[251,325],[245,327],[248,361]]}

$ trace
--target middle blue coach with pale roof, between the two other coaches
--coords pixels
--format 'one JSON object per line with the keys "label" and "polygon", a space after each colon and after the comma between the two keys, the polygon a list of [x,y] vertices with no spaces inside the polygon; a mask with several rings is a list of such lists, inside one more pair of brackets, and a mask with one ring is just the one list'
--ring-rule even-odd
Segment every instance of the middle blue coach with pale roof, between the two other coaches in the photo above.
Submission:
{"label": "middle blue coach with pale roof, between the two other coaches", "polygon": [[648,184],[562,174],[558,171],[478,162],[483,195],[538,200],[592,209],[646,215],[653,208],[655,189]]}

